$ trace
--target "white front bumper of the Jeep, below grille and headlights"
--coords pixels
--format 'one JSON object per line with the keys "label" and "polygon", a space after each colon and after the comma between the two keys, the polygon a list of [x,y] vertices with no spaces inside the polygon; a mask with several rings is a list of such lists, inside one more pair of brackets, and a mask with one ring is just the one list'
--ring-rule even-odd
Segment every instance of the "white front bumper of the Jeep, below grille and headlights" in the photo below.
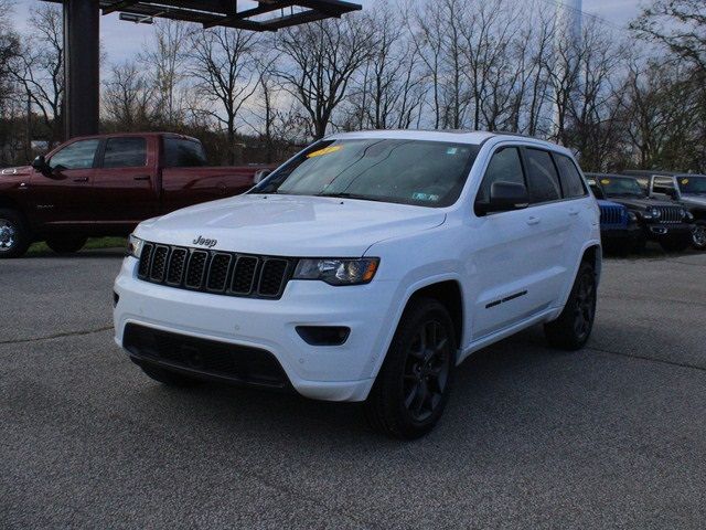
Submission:
{"label": "white front bumper of the Jeep, below grille and headlights", "polygon": [[[136,266],[137,259],[126,258],[115,283],[118,346],[125,346],[126,326],[131,324],[183,337],[184,341],[203,339],[261,350],[276,359],[287,384],[307,398],[364,400],[395,328],[388,310],[394,283],[332,287],[322,282],[290,280],[279,300],[269,300],[150,284],[137,279]],[[341,346],[318,347],[308,344],[297,326],[341,326],[351,332]],[[131,357],[150,362],[140,354]],[[204,374],[197,365],[179,368]],[[212,375],[228,379],[223,373]]]}

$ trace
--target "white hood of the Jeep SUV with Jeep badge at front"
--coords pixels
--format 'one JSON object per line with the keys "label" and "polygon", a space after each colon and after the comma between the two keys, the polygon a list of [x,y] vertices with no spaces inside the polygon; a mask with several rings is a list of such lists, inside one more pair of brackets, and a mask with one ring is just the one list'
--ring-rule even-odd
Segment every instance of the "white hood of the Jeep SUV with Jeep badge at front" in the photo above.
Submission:
{"label": "white hood of the Jeep SUV with Jeep badge at front", "polygon": [[432,208],[323,197],[245,194],[141,223],[136,235],[183,246],[292,257],[357,257],[382,240],[440,225]]}

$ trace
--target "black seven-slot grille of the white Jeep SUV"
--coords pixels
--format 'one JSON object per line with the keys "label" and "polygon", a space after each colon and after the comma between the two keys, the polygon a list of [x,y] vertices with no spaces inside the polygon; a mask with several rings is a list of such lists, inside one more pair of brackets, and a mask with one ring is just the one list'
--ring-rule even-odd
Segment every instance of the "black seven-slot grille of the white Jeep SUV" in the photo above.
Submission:
{"label": "black seven-slot grille of the white Jeep SUV", "polygon": [[138,277],[152,284],[247,298],[280,298],[296,259],[145,242]]}

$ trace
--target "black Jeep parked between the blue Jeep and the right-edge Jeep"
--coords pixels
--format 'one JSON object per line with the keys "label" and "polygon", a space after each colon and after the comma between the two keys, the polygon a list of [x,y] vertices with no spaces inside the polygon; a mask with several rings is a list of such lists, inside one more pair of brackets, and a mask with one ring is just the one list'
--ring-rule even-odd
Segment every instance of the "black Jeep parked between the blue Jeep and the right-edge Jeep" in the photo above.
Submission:
{"label": "black Jeep parked between the blue Jeep and the right-edge Jeep", "polygon": [[667,252],[681,252],[693,243],[694,216],[681,204],[652,198],[634,177],[586,173],[596,181],[606,199],[628,208],[641,227],[635,248],[648,241],[659,243]]}

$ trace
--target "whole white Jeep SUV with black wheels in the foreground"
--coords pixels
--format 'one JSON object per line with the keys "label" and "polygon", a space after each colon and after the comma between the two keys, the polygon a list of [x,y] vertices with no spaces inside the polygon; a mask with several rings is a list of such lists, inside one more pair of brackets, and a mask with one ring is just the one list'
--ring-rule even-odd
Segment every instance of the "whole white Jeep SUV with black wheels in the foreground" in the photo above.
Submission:
{"label": "whole white Jeep SUV with black wheels in the foreground", "polygon": [[116,341],[149,377],[365,401],[402,438],[480,348],[536,324],[582,347],[601,267],[571,153],[491,132],[330,136],[244,195],[141,223],[128,254]]}

